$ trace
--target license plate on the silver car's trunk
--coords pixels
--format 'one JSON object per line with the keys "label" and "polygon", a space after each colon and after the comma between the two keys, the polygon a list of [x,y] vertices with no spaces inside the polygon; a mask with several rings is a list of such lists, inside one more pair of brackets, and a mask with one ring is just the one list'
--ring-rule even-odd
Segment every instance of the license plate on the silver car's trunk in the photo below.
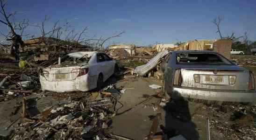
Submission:
{"label": "license plate on the silver car's trunk", "polygon": [[204,75],[200,79],[202,84],[228,84],[227,76]]}

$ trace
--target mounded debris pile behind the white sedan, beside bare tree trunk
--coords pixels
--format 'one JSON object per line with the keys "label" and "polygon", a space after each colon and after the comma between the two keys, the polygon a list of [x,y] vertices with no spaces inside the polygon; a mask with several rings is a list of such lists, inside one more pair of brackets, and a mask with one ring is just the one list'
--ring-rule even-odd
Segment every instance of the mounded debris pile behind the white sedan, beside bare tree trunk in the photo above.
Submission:
{"label": "mounded debris pile behind the white sedan, beside bare tree trunk", "polygon": [[[13,56],[10,56],[11,45],[0,47],[0,59],[11,59],[15,60]],[[19,57],[21,60],[27,62],[42,63],[57,59],[59,56],[64,56],[71,52],[77,51],[88,51],[92,50],[91,47],[81,45],[79,43],[65,42],[57,38],[46,37],[46,38],[34,38],[24,41],[24,46],[19,50]]]}

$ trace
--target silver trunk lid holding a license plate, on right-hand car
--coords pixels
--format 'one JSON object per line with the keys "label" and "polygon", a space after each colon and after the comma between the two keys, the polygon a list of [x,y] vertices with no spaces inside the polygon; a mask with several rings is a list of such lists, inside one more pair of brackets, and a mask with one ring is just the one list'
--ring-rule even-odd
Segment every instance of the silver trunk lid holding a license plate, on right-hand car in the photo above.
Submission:
{"label": "silver trunk lid holding a license plate, on right-hand car", "polygon": [[[215,89],[215,90],[248,90],[249,71],[232,68],[180,69],[181,86]],[[245,78],[246,77],[246,78]],[[248,77],[248,78],[247,78]]]}

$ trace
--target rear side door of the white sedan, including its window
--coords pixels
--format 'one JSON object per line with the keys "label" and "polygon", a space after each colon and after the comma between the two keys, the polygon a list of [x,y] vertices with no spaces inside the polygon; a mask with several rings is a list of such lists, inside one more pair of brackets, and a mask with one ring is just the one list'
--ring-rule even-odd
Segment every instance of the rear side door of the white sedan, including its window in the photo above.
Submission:
{"label": "rear side door of the white sedan, including its window", "polygon": [[97,65],[98,65],[98,68],[100,69],[99,71],[102,72],[103,74],[103,81],[106,81],[107,80],[107,63],[105,61],[105,58],[104,56],[101,54],[101,53],[98,53],[97,54]]}

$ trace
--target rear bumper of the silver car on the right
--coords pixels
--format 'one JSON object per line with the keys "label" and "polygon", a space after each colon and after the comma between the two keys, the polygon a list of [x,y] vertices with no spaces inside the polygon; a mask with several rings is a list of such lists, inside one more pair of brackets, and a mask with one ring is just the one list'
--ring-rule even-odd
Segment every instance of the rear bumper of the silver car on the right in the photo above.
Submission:
{"label": "rear bumper of the silver car on the right", "polygon": [[202,90],[198,88],[173,87],[172,97],[197,98],[213,101],[254,102],[256,91]]}

